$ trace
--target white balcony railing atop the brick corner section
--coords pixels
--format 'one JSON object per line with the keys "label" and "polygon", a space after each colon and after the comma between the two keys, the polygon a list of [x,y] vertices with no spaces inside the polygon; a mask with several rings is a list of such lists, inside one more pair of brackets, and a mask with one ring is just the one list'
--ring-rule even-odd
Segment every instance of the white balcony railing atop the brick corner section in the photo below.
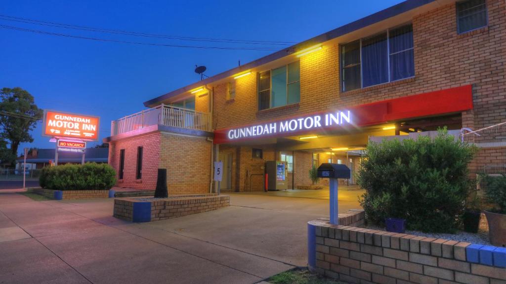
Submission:
{"label": "white balcony railing atop the brick corner section", "polygon": [[126,133],[152,125],[213,131],[211,114],[173,106],[159,105],[111,122],[111,135]]}

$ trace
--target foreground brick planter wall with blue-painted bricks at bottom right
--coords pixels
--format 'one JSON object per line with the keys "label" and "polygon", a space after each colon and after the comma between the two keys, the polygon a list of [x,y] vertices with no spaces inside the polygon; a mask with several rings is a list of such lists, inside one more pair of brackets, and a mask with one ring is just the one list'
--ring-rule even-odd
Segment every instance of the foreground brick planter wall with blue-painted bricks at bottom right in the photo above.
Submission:
{"label": "foreground brick planter wall with blue-painted bricks at bottom right", "polygon": [[[504,284],[506,249],[308,222],[309,267],[351,283]],[[308,232],[309,237],[309,232]],[[310,238],[308,238],[310,239]]]}

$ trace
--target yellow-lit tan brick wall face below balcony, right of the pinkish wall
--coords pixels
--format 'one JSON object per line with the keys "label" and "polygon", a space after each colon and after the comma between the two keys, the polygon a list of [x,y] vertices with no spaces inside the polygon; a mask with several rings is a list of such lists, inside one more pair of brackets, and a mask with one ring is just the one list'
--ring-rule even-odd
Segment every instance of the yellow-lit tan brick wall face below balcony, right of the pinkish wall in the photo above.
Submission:
{"label": "yellow-lit tan brick wall face below balcony, right of the pinkish wall", "polygon": [[212,144],[206,137],[163,132],[160,143],[159,165],[167,169],[168,193],[208,193]]}

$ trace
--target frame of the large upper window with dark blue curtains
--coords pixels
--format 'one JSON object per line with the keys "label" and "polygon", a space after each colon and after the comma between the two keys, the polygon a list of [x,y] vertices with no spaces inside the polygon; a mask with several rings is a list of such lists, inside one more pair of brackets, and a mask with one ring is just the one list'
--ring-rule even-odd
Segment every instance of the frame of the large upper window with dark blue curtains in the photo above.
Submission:
{"label": "frame of the large upper window with dark blue curtains", "polygon": [[[387,82],[383,82],[383,83],[377,83],[377,84],[374,84],[374,85],[369,85],[369,86],[365,86],[364,87],[364,76],[363,76],[363,59],[362,59],[362,40],[363,39],[367,39],[367,38],[372,38],[372,37],[375,37],[375,36],[378,36],[382,33],[385,33],[385,30],[382,30],[381,32],[377,32],[377,33],[374,33],[374,34],[371,34],[369,36],[365,36],[365,37],[361,37],[359,39],[355,39],[355,40],[351,40],[351,41],[348,41],[348,42],[345,42],[345,43],[340,43],[339,44],[339,57],[340,57],[340,60],[339,60],[339,74],[340,74],[340,92],[349,92],[349,91],[354,91],[354,90],[359,90],[359,89],[364,89],[364,88],[369,88],[369,87],[374,87],[374,86],[378,86],[378,85],[383,85],[383,84],[388,84],[388,83],[392,83],[392,82],[397,82],[397,81],[401,81],[401,80],[406,80],[406,79],[410,79],[410,78],[414,78],[416,76],[416,74],[414,73],[413,71],[413,76],[410,76],[410,77],[405,77],[405,78],[401,78],[401,79],[396,79],[396,80],[392,80],[392,74],[391,74],[391,70],[390,70],[390,56],[393,55],[393,54],[390,54],[390,30],[394,30],[394,29],[397,29],[397,28],[400,28],[400,27],[403,27],[403,26],[407,26],[407,25],[411,25],[411,33],[413,33],[413,30],[412,30],[412,26],[413,26],[413,23],[412,22],[406,22],[404,24],[400,24],[400,25],[397,25],[397,26],[393,26],[391,28],[388,28],[386,30],[386,33],[387,33],[387,68],[388,68],[388,81]],[[360,87],[359,88],[356,88],[356,89],[351,89],[351,90],[344,90],[344,82],[343,82],[343,78],[344,78],[344,75],[343,75],[343,61],[341,60],[343,54],[342,54],[342,48],[343,48],[343,45],[346,45],[348,43],[352,43],[352,42],[355,42],[355,41],[359,41],[359,50],[360,50],[360,63],[358,64],[354,64],[353,66],[357,66],[357,65],[360,65]],[[410,49],[406,49],[406,50],[403,50],[403,51],[400,51],[400,52],[396,52],[394,54],[398,54],[398,53],[401,53],[401,52],[405,52],[405,51],[408,51],[408,50],[413,50],[414,51],[414,42],[413,42],[413,47],[410,48]],[[413,52],[413,69],[415,68],[414,66],[414,52]],[[349,66],[348,66],[349,67]]]}

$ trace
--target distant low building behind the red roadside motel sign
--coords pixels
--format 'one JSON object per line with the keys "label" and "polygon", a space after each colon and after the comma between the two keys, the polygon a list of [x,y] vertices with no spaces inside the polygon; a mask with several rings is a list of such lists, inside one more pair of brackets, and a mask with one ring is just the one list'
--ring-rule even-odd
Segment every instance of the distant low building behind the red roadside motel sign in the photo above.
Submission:
{"label": "distant low building behind the red roadside motel sign", "polygon": [[[85,150],[85,162],[107,163],[109,158],[108,148],[87,148]],[[17,159],[16,169],[22,168],[24,157]],[[41,169],[46,165],[54,163],[55,149],[33,149],[26,156],[26,169]],[[58,153],[58,164],[80,164],[80,153]]]}

